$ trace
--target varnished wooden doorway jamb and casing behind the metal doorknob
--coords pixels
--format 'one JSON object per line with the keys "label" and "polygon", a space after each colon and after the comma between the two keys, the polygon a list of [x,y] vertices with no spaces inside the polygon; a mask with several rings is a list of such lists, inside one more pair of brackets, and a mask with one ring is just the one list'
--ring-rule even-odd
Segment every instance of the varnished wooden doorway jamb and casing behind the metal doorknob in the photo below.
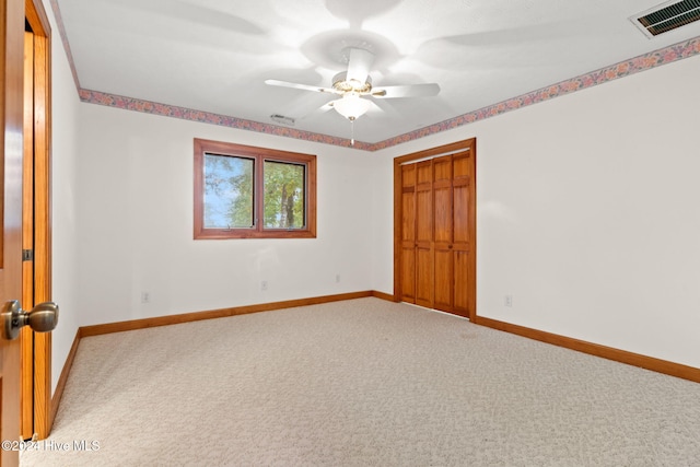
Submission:
{"label": "varnished wooden doorway jamb and casing behind the metal doorknob", "polygon": [[[25,310],[51,300],[50,222],[50,50],[51,31],[39,0],[25,1],[24,214]],[[51,332],[23,330],[22,423],[24,437],[48,436],[51,429]]]}

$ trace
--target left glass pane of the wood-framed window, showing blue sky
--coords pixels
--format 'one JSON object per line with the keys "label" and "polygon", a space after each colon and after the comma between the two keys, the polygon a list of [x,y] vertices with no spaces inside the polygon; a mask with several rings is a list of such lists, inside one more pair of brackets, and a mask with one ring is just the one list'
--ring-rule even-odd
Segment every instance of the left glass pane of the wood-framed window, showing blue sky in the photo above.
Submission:
{"label": "left glass pane of the wood-framed window, showing blue sky", "polygon": [[205,229],[250,229],[254,160],[205,154]]}

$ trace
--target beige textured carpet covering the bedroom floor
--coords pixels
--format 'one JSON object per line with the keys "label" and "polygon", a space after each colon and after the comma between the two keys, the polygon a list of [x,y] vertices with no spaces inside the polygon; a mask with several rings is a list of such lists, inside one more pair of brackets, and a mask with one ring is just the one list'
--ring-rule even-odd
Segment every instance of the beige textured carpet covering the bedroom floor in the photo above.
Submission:
{"label": "beige textured carpet covering the bedroom floor", "polygon": [[83,339],[47,443],[21,465],[700,466],[700,384],[361,299]]}

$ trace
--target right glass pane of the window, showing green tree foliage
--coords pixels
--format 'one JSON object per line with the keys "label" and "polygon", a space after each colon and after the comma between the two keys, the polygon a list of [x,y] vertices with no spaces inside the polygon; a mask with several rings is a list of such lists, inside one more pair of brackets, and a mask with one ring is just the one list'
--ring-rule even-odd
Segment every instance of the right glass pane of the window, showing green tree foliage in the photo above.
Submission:
{"label": "right glass pane of the window, showing green tree foliage", "polygon": [[265,161],[265,229],[304,229],[305,173],[303,164]]}

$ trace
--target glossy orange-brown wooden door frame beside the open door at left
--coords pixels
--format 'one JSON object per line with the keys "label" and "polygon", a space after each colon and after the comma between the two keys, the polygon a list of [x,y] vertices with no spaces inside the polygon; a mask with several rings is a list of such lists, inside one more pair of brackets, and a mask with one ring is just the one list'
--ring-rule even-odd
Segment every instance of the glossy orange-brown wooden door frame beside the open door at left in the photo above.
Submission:
{"label": "glossy orange-brown wooden door frame beside the open door at left", "polygon": [[[51,203],[50,203],[50,141],[51,141],[51,28],[40,0],[25,0],[26,23],[34,34],[34,196],[25,209],[34,210],[33,283],[34,303],[51,300]],[[48,436],[54,423],[51,410],[51,332],[33,332],[31,346],[23,346],[22,358],[33,362],[33,375],[23,378],[33,383],[33,400],[22,400],[23,418],[33,420],[32,434]],[[24,390],[23,390],[24,392]],[[23,434],[28,430],[23,428]]]}

